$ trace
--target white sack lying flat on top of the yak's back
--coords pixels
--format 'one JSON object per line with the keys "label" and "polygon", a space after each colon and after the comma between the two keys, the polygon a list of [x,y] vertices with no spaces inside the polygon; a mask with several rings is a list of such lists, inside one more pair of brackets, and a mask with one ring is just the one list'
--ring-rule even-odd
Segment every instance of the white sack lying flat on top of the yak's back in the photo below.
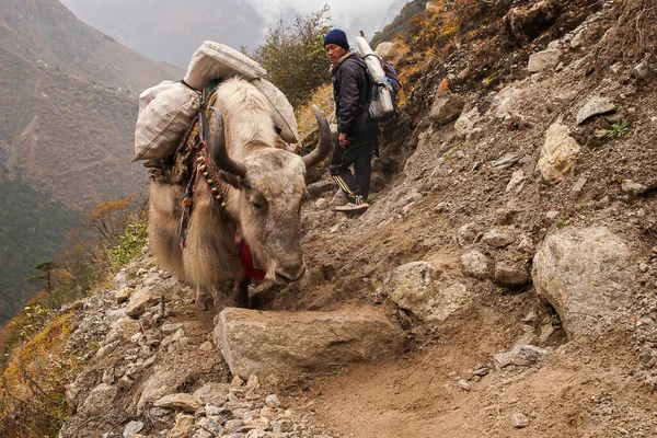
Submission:
{"label": "white sack lying flat on top of the yak's back", "polygon": [[211,41],[203,42],[192,55],[185,82],[195,90],[203,90],[214,79],[239,76],[247,80],[262,78],[267,70],[246,55]]}

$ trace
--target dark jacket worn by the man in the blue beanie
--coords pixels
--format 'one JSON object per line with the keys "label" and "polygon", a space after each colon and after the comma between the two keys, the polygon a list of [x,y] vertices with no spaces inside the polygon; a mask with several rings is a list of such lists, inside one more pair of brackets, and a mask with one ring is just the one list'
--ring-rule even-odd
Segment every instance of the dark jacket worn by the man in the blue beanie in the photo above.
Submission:
{"label": "dark jacket worn by the man in the blue beanie", "polygon": [[356,54],[350,55],[333,69],[333,99],[337,131],[348,137],[362,138],[378,129],[369,117],[371,81],[367,66]]}

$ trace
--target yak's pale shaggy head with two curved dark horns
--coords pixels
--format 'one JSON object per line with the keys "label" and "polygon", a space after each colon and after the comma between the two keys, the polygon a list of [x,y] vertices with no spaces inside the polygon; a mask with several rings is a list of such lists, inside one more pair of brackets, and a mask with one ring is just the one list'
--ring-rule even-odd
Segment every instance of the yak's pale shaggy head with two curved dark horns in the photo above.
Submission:
{"label": "yak's pale shaggy head with two curved dark horns", "polygon": [[256,267],[277,283],[295,281],[306,272],[301,251],[301,206],[308,196],[306,170],[319,164],[331,150],[331,131],[314,107],[320,140],[308,155],[284,149],[246,145],[256,150],[243,161],[228,155],[221,115],[216,115],[212,160],[233,188],[229,209],[238,219],[242,238],[253,253]]}

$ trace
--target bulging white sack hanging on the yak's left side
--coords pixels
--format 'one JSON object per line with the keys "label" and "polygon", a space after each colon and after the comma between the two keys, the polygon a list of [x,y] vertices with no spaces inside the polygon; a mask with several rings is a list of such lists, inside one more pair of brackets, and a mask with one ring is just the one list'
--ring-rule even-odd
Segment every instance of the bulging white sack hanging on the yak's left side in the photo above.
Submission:
{"label": "bulging white sack hanging on the yak's left side", "polygon": [[199,93],[181,82],[164,81],[139,94],[135,126],[135,158],[171,155],[198,113]]}

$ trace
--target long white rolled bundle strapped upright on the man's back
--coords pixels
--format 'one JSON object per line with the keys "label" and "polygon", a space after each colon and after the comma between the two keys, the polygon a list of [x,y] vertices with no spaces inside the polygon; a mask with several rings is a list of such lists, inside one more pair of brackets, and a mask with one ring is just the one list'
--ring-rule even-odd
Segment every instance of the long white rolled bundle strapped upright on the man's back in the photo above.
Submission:
{"label": "long white rolled bundle strapped upright on the man's back", "polygon": [[356,49],[365,60],[370,78],[374,82],[374,90],[370,101],[370,115],[377,120],[392,117],[395,112],[392,85],[388,81],[385,71],[381,67],[381,58],[370,47],[362,36],[356,37]]}

